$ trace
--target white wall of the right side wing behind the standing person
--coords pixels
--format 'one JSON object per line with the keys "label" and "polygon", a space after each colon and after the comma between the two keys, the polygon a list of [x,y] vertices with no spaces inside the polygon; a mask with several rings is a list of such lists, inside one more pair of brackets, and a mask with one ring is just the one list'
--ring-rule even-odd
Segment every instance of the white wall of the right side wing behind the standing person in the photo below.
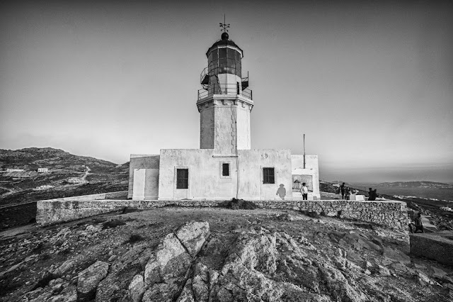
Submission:
{"label": "white wall of the right side wing behind the standing person", "polygon": [[[311,175],[313,177],[313,192],[309,192],[309,199],[321,198],[319,193],[319,165],[318,155],[291,155],[292,175]],[[302,194],[293,192],[294,199],[302,199]]]}

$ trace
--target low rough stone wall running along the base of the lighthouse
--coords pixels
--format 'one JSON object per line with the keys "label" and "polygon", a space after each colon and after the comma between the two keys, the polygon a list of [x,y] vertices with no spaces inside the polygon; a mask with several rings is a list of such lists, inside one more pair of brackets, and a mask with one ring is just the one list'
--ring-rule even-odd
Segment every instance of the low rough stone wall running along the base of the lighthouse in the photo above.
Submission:
{"label": "low rough stone wall running along the base of the lighthouse", "polygon": [[[125,192],[115,192],[124,196]],[[96,194],[97,197],[98,194]],[[36,221],[40,225],[50,225],[64,221],[76,220],[103,213],[130,208],[161,208],[168,205],[184,207],[213,207],[224,201],[133,201],[133,200],[96,200],[96,198],[71,199],[57,198],[47,201],[38,201]],[[280,208],[296,211],[324,212],[326,216],[357,219],[369,223],[385,225],[388,228],[406,230],[408,216],[406,203],[402,201],[253,201],[259,208]]]}

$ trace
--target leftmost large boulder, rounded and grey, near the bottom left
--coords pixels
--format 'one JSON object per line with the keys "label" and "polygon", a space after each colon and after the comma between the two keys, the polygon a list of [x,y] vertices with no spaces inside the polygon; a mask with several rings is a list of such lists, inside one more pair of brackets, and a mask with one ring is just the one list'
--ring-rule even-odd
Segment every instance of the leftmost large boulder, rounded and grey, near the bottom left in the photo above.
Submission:
{"label": "leftmost large boulder, rounded and grey, near the bottom left", "polygon": [[108,263],[97,261],[79,274],[77,301],[91,301],[96,296],[99,282],[107,276]]}

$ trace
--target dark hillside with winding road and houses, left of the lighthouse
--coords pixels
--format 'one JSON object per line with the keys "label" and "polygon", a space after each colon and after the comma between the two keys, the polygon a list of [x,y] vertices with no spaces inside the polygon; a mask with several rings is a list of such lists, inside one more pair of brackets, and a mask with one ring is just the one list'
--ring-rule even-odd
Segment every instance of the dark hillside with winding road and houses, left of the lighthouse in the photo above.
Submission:
{"label": "dark hillside with winding road and houses, left of the lighthouse", "polygon": [[[54,148],[0,149],[0,206],[106,191],[125,191],[129,162],[115,164]],[[47,168],[47,173],[38,173]],[[23,169],[24,172],[6,172]],[[71,183],[74,179],[82,183]]]}

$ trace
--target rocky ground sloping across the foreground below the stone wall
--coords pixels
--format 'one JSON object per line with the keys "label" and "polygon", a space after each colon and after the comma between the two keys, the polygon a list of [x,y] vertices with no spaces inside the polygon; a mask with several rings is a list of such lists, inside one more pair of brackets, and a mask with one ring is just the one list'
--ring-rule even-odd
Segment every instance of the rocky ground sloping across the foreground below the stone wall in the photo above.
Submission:
{"label": "rocky ground sloping across the foreground below the stone wall", "polygon": [[0,236],[1,301],[453,298],[453,268],[408,255],[407,233],[295,211],[161,208]]}

